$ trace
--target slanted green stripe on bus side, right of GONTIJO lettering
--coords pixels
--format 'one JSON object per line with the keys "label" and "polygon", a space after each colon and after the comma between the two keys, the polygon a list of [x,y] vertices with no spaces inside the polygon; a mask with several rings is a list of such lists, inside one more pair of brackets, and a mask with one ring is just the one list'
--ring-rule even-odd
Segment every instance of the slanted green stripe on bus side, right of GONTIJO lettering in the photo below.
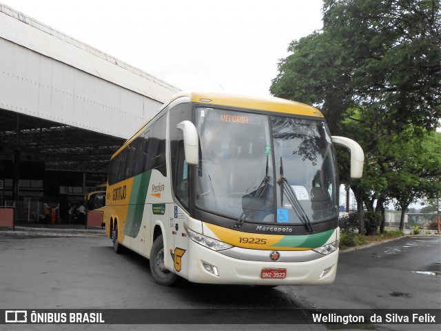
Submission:
{"label": "slanted green stripe on bus side, right of GONTIJO lettering", "polygon": [[127,221],[125,221],[124,233],[135,238],[141,228],[143,220],[145,197],[150,183],[152,170],[137,174],[133,177],[132,192],[130,193],[129,210],[127,211]]}

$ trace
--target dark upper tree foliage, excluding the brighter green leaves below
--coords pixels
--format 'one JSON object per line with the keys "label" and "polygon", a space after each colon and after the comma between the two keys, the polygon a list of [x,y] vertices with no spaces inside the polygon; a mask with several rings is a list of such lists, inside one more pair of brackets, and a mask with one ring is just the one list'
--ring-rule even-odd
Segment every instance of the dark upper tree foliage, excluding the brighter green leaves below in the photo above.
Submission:
{"label": "dark upper tree foliage, excluding the brighter green leaves below", "polygon": [[350,108],[389,132],[441,115],[439,0],[326,0],[323,29],[289,45],[270,91],[322,109],[334,133]]}

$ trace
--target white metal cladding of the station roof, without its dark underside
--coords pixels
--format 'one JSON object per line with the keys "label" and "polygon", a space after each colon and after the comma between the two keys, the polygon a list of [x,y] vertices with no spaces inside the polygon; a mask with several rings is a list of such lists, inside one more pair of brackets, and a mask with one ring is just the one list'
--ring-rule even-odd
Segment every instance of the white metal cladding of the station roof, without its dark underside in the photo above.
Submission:
{"label": "white metal cladding of the station roof, without its dark underside", "polygon": [[128,138],[176,92],[0,4],[0,108]]}

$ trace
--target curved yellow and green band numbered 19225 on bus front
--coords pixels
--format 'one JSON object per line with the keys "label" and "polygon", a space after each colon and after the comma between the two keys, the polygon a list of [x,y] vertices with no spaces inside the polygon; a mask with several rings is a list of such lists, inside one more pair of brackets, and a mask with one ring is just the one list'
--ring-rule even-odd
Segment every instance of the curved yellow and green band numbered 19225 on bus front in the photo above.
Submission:
{"label": "curved yellow and green band numbered 19225 on bus front", "polygon": [[236,247],[252,248],[258,250],[311,250],[324,245],[331,236],[335,235],[335,229],[325,232],[305,234],[300,236],[280,234],[256,234],[240,232],[218,225],[205,223],[207,228],[224,243]]}

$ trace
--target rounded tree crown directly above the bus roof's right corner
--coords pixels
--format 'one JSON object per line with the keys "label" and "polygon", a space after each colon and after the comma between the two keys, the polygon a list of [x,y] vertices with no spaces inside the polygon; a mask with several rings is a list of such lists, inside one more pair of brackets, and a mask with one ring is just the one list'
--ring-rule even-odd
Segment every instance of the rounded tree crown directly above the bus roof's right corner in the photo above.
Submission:
{"label": "rounded tree crown directly above the bus roof's right corner", "polygon": [[350,77],[340,52],[325,32],[292,41],[289,57],[278,65],[279,74],[273,80],[271,94],[276,97],[313,104],[324,112],[331,132],[337,134],[342,114],[351,105],[347,98]]}

